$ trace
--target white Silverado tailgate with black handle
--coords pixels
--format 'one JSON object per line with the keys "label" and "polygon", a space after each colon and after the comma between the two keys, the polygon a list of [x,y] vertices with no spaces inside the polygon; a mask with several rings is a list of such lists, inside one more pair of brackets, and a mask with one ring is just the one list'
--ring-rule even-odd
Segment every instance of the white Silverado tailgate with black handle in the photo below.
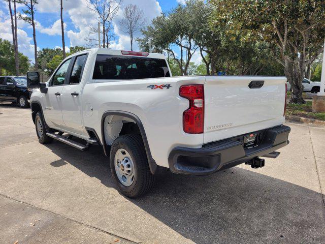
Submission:
{"label": "white Silverado tailgate with black handle", "polygon": [[[263,86],[250,88],[252,81]],[[285,77],[207,76],[204,143],[283,124],[285,82]]]}

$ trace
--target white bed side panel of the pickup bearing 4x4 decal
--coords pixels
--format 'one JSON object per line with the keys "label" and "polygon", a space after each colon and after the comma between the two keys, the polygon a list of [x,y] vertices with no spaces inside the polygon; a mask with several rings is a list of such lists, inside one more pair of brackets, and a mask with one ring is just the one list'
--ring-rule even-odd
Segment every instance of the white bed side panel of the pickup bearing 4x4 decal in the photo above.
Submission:
{"label": "white bed side panel of the pickup bearing 4x4 decal", "polygon": [[[169,77],[127,81],[94,80],[84,86],[82,112],[84,125],[94,128],[101,137],[102,115],[110,110],[138,116],[144,126],[153,159],[168,167],[168,155],[176,146],[201,147],[203,134],[183,131],[182,114],[188,100],[179,97],[179,87],[203,84],[205,77]],[[170,84],[170,88],[151,89],[150,85]],[[92,108],[92,111],[90,110]],[[101,138],[103,142],[103,138]]]}

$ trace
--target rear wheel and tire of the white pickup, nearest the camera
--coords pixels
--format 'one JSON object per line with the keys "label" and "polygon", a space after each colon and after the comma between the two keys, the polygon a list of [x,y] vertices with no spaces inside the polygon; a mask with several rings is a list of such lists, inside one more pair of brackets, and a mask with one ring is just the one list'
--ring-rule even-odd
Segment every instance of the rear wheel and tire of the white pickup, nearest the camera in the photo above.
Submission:
{"label": "rear wheel and tire of the white pickup, nearest the camera", "polygon": [[119,191],[136,198],[153,186],[144,144],[140,135],[128,134],[115,139],[111,147],[110,167]]}

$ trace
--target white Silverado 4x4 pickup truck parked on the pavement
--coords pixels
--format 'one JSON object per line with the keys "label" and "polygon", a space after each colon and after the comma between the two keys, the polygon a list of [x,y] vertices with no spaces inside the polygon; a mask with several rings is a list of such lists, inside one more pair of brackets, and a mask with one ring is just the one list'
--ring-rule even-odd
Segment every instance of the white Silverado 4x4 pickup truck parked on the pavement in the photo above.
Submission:
{"label": "white Silverado 4x4 pickup truck parked on the pavement", "polygon": [[89,49],[64,59],[48,82],[37,72],[27,82],[39,141],[103,146],[128,197],[146,193],[159,167],[194,175],[258,168],[259,157],[288,144],[284,77],[172,77],[164,54]]}

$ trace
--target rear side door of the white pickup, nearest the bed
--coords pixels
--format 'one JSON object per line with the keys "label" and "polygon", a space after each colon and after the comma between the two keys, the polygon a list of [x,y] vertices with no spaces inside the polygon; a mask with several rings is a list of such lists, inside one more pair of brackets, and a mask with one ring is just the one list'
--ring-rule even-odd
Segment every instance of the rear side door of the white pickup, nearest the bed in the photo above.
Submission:
{"label": "rear side door of the white pickup, nearest the bed", "polygon": [[72,59],[71,72],[62,90],[62,116],[66,130],[83,135],[80,93],[82,90],[82,73],[88,54]]}

